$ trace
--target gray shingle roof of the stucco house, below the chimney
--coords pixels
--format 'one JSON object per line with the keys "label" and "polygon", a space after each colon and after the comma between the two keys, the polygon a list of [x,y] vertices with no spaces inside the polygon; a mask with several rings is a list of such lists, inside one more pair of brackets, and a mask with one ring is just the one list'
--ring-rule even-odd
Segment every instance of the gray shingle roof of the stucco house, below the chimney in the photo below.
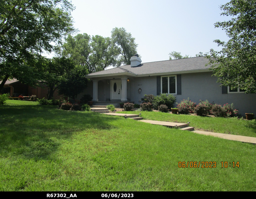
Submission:
{"label": "gray shingle roof of the stucco house, below the chimney", "polygon": [[191,57],[177,60],[166,60],[158,62],[142,63],[136,67],[131,65],[124,65],[117,68],[111,68],[108,70],[102,70],[96,73],[91,73],[87,76],[104,76],[104,75],[117,75],[116,73],[130,73],[131,75],[147,75],[154,73],[174,73],[174,72],[185,72],[191,70],[203,70],[210,68],[210,65],[205,66],[209,60],[204,57]]}

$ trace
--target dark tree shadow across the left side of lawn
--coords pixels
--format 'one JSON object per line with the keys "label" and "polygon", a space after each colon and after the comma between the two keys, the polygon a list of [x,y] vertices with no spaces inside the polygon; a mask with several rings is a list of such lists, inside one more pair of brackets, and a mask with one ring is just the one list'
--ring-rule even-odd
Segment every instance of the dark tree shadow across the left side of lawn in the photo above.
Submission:
{"label": "dark tree shadow across the left side of lawn", "polygon": [[117,117],[93,112],[63,111],[56,106],[1,106],[0,156],[49,159],[75,132],[113,129]]}

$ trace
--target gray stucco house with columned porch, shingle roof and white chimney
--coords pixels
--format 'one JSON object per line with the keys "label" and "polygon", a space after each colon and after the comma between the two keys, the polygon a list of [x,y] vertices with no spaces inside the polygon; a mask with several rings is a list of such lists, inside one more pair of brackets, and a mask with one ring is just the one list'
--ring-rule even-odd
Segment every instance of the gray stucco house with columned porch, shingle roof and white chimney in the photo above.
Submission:
{"label": "gray stucco house with columned porch, shingle roof and white chimney", "polygon": [[85,93],[93,96],[95,104],[139,104],[145,94],[169,93],[176,96],[178,103],[188,97],[197,104],[200,99],[207,99],[222,106],[234,103],[242,115],[256,113],[256,94],[221,87],[206,63],[208,59],[204,57],[141,63],[141,59],[134,56],[131,65],[87,75],[91,81]]}

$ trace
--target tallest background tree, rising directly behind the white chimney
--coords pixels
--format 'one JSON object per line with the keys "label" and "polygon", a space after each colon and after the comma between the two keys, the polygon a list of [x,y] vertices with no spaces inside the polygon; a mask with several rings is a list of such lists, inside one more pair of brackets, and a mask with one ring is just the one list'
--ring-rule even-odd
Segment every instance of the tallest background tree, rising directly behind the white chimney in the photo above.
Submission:
{"label": "tallest background tree, rising directly behind the white chimney", "polygon": [[126,32],[125,28],[113,28],[111,31],[111,40],[116,51],[119,53],[116,66],[121,64],[131,64],[130,58],[137,54],[137,44],[131,33]]}

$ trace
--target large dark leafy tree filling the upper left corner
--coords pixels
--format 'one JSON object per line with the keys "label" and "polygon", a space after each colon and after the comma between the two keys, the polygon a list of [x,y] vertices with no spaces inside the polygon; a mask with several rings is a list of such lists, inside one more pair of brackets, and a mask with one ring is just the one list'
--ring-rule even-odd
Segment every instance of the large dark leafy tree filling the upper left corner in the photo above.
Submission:
{"label": "large dark leafy tree filling the upper left corner", "polygon": [[0,0],[0,90],[8,78],[29,84],[40,78],[37,59],[74,31],[73,9],[68,0]]}

